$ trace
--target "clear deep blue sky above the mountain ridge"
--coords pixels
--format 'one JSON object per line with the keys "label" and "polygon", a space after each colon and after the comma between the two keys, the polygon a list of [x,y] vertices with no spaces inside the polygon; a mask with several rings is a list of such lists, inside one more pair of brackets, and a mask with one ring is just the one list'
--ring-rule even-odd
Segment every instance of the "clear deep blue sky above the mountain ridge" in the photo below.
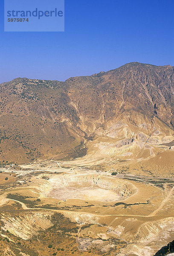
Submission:
{"label": "clear deep blue sky above the mountain ridge", "polygon": [[0,82],[174,66],[174,0],[65,0],[65,32],[4,32],[3,9],[1,0]]}

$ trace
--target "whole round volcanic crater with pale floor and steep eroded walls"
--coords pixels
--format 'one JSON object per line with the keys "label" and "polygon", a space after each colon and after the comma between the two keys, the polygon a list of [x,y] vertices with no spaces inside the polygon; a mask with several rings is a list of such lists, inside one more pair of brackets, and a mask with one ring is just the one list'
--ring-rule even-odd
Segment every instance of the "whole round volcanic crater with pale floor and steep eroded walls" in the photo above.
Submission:
{"label": "whole round volcanic crater with pale floor and steep eroded walls", "polygon": [[133,184],[101,175],[62,175],[49,180],[51,188],[47,196],[59,200],[121,201],[136,192]]}

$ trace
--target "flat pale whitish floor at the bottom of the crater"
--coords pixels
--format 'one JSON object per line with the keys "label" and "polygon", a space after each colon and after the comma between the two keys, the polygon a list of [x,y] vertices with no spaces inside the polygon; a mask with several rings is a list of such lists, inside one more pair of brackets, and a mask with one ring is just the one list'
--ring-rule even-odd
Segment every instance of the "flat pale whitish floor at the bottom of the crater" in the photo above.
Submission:
{"label": "flat pale whitish floor at the bottom of the crater", "polygon": [[107,189],[101,189],[98,187],[61,187],[52,189],[48,194],[51,198],[57,198],[59,200],[67,199],[81,199],[90,201],[120,201],[121,195],[116,192]]}

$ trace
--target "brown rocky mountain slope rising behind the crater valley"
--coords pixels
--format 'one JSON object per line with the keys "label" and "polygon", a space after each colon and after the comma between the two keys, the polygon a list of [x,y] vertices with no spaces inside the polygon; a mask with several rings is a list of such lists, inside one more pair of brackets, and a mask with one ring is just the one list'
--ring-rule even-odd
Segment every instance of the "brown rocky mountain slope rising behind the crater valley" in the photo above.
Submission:
{"label": "brown rocky mountain slope rising behind the crater valley", "polygon": [[2,165],[82,157],[173,171],[173,153],[170,65],[132,62],[65,82],[17,78],[0,84]]}

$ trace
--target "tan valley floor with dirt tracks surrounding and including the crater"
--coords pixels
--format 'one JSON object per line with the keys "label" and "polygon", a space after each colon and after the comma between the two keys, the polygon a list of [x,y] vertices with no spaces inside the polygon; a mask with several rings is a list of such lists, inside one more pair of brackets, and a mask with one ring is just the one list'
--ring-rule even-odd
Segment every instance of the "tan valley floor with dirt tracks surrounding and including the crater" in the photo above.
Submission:
{"label": "tan valley floor with dirt tracks surrounding and including the crater", "polygon": [[56,164],[2,169],[2,256],[153,256],[174,240],[174,179]]}

